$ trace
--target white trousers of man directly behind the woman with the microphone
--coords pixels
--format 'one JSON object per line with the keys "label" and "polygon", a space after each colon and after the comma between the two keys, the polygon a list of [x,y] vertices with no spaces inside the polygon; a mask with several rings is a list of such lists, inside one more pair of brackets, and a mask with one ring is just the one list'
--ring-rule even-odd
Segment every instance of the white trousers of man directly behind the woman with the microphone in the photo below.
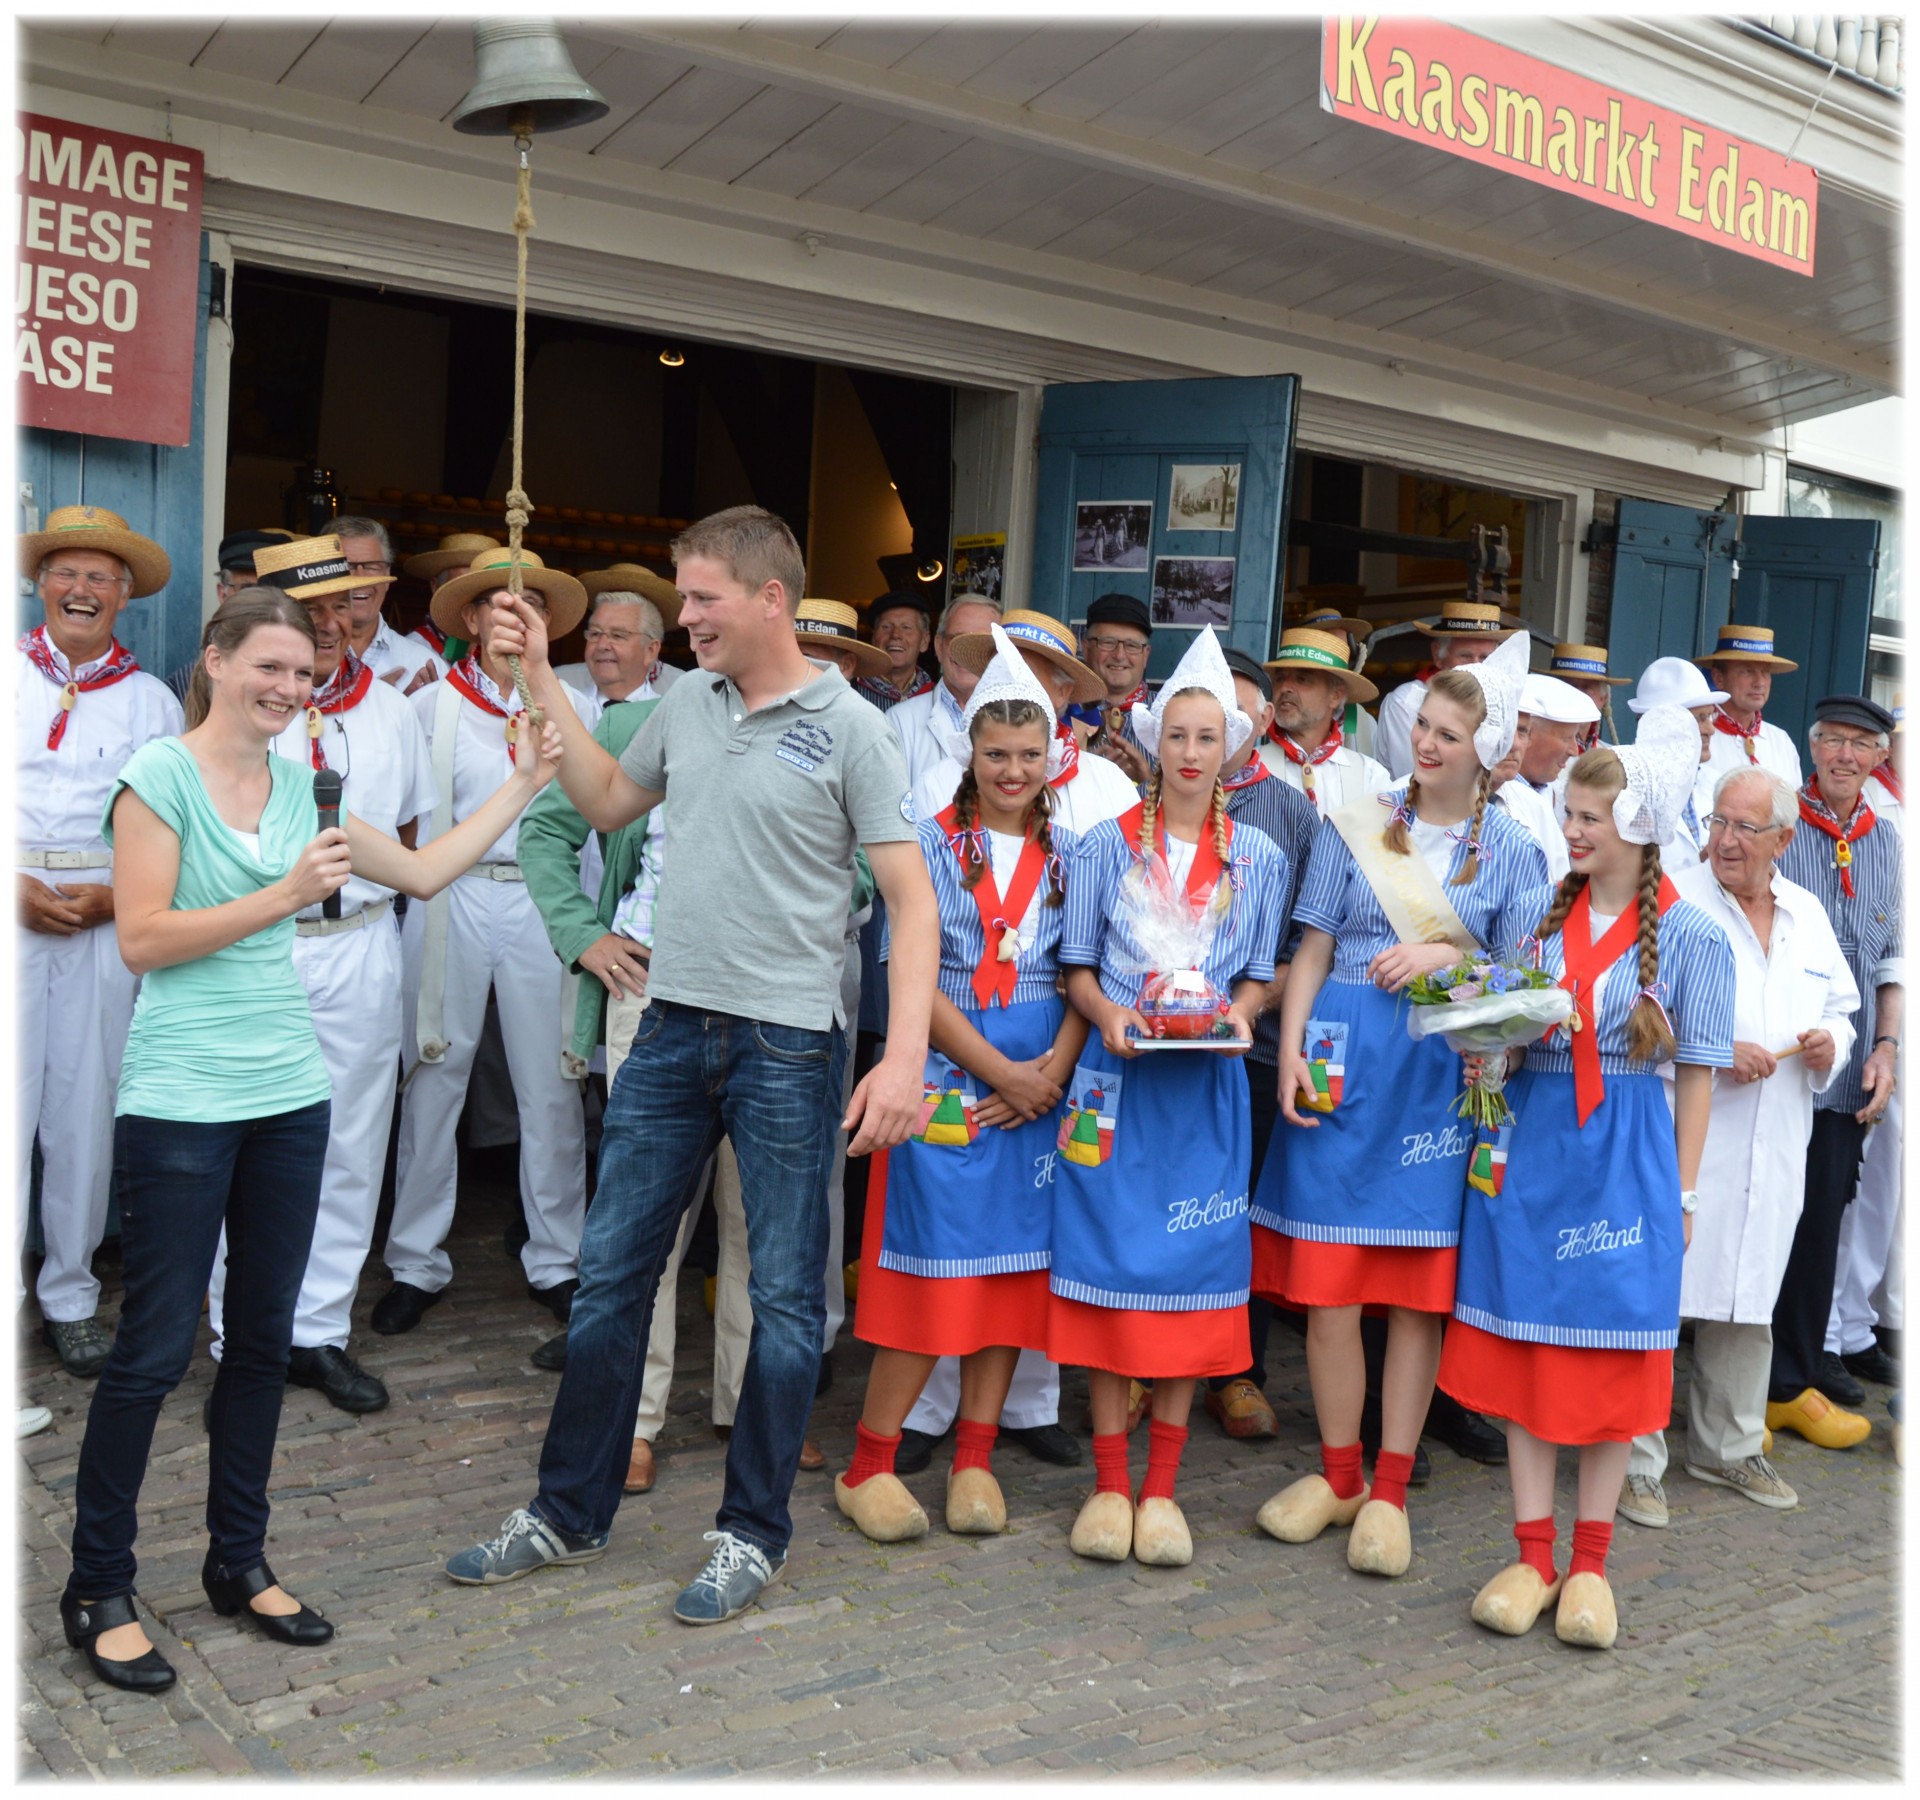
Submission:
{"label": "white trousers of man directly behind the woman with the microphone", "polygon": [[[294,1347],[348,1347],[348,1318],[359,1288],[372,1220],[380,1211],[386,1134],[394,1125],[399,1077],[399,933],[382,913],[359,931],[294,938],[294,969],[307,990],[313,1030],[334,1088],[321,1211],[313,1251],[294,1307]],[[227,1290],[227,1240],[213,1259],[213,1355],[221,1353],[221,1295]]]}

